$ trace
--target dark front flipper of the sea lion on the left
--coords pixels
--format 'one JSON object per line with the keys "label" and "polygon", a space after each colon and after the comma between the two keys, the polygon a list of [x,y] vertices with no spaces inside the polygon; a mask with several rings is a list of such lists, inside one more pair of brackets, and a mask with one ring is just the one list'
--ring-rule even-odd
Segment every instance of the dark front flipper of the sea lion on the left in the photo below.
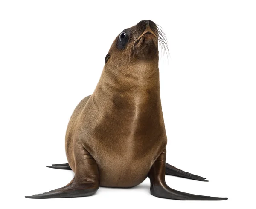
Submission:
{"label": "dark front flipper of the sea lion on the left", "polygon": [[26,198],[74,198],[93,195],[99,189],[99,171],[96,161],[82,146],[74,148],[76,172],[74,179],[67,185],[43,194],[25,196]]}

